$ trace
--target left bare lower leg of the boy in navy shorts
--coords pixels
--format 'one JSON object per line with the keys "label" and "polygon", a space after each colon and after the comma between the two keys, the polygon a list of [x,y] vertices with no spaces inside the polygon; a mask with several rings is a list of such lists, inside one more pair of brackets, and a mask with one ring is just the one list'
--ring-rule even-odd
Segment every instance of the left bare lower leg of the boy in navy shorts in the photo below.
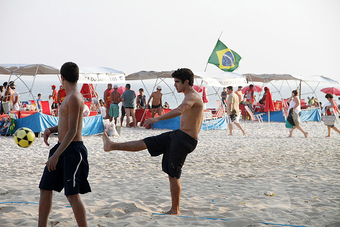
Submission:
{"label": "left bare lower leg of the boy in navy shorts", "polygon": [[52,208],[52,191],[40,189],[38,227],[46,227]]}

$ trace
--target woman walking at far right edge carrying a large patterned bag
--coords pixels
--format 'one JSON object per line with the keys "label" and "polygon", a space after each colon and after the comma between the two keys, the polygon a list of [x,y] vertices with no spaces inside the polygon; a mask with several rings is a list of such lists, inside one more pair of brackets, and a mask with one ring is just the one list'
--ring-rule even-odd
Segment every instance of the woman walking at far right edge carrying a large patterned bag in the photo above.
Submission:
{"label": "woman walking at far right edge carrying a large patterned bag", "polygon": [[340,130],[334,126],[334,123],[337,119],[336,115],[337,113],[340,113],[340,111],[331,93],[327,93],[325,97],[329,103],[325,104],[326,115],[322,116],[322,120],[323,123],[327,125],[328,135],[326,137],[331,137],[331,128],[340,133]]}

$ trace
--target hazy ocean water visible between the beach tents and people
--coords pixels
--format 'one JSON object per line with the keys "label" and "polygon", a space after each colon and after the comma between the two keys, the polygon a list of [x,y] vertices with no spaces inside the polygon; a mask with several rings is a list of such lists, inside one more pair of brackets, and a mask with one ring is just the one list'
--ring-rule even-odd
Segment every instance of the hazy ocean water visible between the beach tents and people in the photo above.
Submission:
{"label": "hazy ocean water visible between the beach tents and people", "polygon": [[[3,82],[8,81],[8,76],[1,76],[0,75],[0,84],[2,85]],[[20,80],[22,79],[22,80]],[[37,94],[40,93],[42,95],[42,100],[49,100],[49,95],[52,93],[51,85],[55,85],[57,89],[59,89],[59,86],[61,85],[59,78],[56,75],[38,75],[35,77],[35,80],[33,80],[33,77],[30,76],[22,76],[20,79],[17,79],[15,81],[16,83],[16,90],[20,94],[20,101],[28,101],[32,100],[32,96],[29,94],[29,89],[32,89],[32,94],[34,95],[34,99],[37,99]],[[13,78],[12,78],[13,80]],[[34,82],[34,83],[33,83]],[[127,83],[131,84],[131,89],[136,90],[138,92],[139,88],[144,89],[144,94],[146,95],[147,100],[150,97],[151,92],[153,91],[153,87],[155,85],[161,85],[162,86],[162,93],[163,93],[163,105],[165,102],[168,102],[170,105],[170,108],[175,108],[180,104],[184,99],[183,93],[177,93],[177,91],[173,87],[173,79],[165,79],[164,83],[163,81],[158,80],[156,83],[156,80],[143,80],[143,83],[141,81],[127,81]],[[198,81],[198,83],[201,83],[201,81]],[[25,86],[27,85],[27,87]],[[32,86],[33,84],[33,86]],[[196,84],[196,80],[195,80]],[[257,85],[263,85],[262,83],[255,83]],[[266,85],[270,88],[272,92],[273,100],[281,100],[281,96],[283,98],[289,98],[291,95],[291,90],[296,89],[298,87],[298,83],[295,81],[289,81],[289,83],[284,82],[274,82],[272,84]],[[313,89],[318,85],[317,83],[308,83]],[[315,96],[312,94],[313,90],[308,86],[306,83],[302,83],[302,96],[301,99],[306,99],[307,96]],[[78,89],[80,90],[83,84],[78,84]],[[94,85],[95,90],[99,94],[99,98],[103,99],[103,93],[105,89],[107,88],[106,84],[97,84]],[[119,84],[119,86],[125,86],[124,84]],[[315,90],[316,96],[319,98],[319,101],[326,102],[325,94],[321,92],[320,90],[324,87],[340,87],[339,84],[326,84],[321,83],[318,85],[317,89]],[[217,92],[221,94],[222,87],[215,87]],[[208,87],[208,98],[210,100],[209,103],[206,104],[207,108],[216,108],[216,102],[215,100],[219,100],[219,97],[215,94],[216,91],[213,87]],[[237,89],[237,87],[234,87],[234,89]],[[280,93],[277,91],[277,89],[280,90]],[[172,91],[174,94],[172,94]],[[202,93],[201,93],[202,94]],[[258,97],[262,97],[262,94],[258,94],[255,92],[256,99]],[[338,98],[336,98],[338,99]],[[50,100],[51,102],[51,100]]]}

